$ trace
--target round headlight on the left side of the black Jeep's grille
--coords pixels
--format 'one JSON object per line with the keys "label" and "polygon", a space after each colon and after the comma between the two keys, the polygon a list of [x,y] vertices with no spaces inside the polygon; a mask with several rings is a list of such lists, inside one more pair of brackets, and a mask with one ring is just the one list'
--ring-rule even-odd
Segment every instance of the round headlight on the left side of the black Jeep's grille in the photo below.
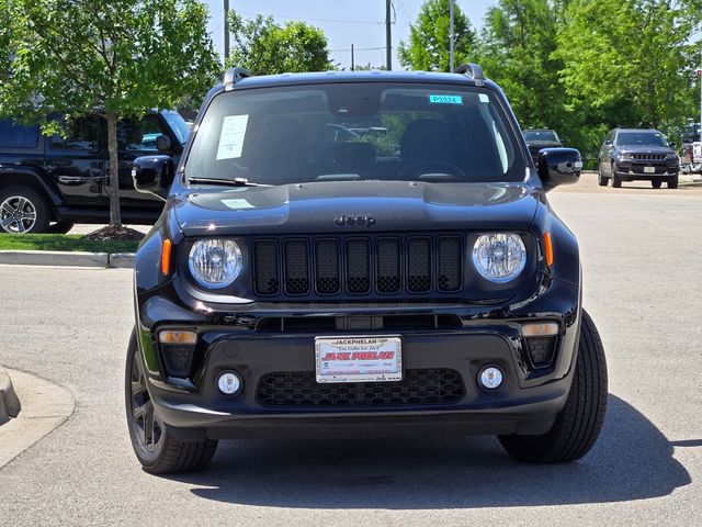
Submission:
{"label": "round headlight on the left side of the black Jeep's grille", "polygon": [[241,273],[244,257],[230,239],[201,239],[190,249],[188,267],[200,285],[226,288]]}

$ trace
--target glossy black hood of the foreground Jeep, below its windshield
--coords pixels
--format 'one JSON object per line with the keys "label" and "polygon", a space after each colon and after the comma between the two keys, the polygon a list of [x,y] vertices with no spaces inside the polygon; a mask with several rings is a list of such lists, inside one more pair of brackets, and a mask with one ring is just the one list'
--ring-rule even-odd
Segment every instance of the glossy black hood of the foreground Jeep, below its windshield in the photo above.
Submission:
{"label": "glossy black hood of the foreground Jeep, below its windshield", "polygon": [[[445,229],[525,231],[540,190],[522,183],[312,182],[189,188],[172,198],[186,236]],[[340,217],[353,218],[341,222]],[[363,225],[359,225],[362,217]]]}

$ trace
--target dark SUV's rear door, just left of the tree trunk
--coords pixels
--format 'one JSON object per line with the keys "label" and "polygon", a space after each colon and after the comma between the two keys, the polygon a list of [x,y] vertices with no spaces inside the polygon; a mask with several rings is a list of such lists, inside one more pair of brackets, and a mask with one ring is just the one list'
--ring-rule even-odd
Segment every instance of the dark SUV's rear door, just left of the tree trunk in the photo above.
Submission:
{"label": "dark SUV's rear door, just left of the tree trunk", "polygon": [[106,206],[103,193],[107,150],[104,121],[86,115],[65,126],[63,136],[48,138],[44,154],[46,171],[66,204],[91,209]]}

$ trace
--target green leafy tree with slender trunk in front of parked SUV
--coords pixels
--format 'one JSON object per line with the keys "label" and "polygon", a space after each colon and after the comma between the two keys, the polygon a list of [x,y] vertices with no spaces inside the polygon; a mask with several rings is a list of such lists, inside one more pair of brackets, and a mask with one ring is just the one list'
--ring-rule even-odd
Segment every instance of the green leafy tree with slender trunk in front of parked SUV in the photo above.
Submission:
{"label": "green leafy tree with slender trunk in front of parked SUV", "polygon": [[[196,0],[0,0],[0,114],[56,131],[104,113],[110,152],[110,223],[121,226],[117,121],[202,97],[219,74]],[[2,66],[2,64],[0,64]]]}

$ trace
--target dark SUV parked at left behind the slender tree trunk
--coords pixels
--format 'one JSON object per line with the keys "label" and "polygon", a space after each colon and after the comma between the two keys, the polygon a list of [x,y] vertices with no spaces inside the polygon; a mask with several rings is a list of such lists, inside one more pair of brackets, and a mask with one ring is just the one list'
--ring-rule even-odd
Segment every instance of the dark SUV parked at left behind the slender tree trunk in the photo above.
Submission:
{"label": "dark SUV parked at left behind the slender tree trunk", "polygon": [[[178,159],[190,128],[172,111],[117,125],[120,197],[126,223],[151,224],[163,201],[137,192],[132,164],[147,154]],[[159,138],[160,149],[159,149]],[[0,121],[0,232],[65,233],[73,223],[107,223],[110,179],[106,125],[98,114],[75,121],[66,137],[38,126]]]}

